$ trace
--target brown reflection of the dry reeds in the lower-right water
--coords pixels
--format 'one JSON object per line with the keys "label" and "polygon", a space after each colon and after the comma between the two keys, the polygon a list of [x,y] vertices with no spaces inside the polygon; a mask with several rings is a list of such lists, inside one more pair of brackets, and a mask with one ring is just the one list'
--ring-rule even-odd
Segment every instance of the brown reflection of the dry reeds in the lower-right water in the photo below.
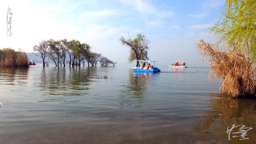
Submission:
{"label": "brown reflection of the dry reeds in the lower-right water", "polygon": [[[232,143],[254,143],[256,141],[256,99],[234,99],[224,94],[211,94],[210,107],[203,111],[199,116],[201,120],[196,124],[198,134],[210,134],[217,136],[222,141]],[[227,128],[235,125],[245,125],[251,127],[245,136],[247,140],[240,141],[238,134],[230,134],[228,140]],[[233,129],[232,132],[239,132],[239,129]],[[231,132],[231,133],[232,133]]]}

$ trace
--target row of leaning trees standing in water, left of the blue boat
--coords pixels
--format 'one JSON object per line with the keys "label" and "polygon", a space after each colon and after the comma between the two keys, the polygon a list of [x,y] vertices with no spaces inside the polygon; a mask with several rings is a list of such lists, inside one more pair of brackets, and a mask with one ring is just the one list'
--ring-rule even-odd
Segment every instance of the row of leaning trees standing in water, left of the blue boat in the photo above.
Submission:
{"label": "row of leaning trees standing in water, left of the blue boat", "polygon": [[[42,40],[39,45],[34,45],[33,50],[40,54],[37,56],[43,59],[43,66],[45,66],[45,59],[47,57],[49,57],[56,66],[62,66],[63,64],[64,67],[66,66],[66,62],[69,64],[69,67],[71,64],[72,67],[74,67],[75,65],[81,66],[81,64],[85,63],[87,63],[88,66],[90,64],[96,66],[97,62],[102,57],[100,53],[91,52],[91,46],[89,44],[81,44],[78,40],[74,39],[71,41],[67,41],[67,39],[58,41],[53,39]],[[114,66],[114,63],[117,62],[110,60],[110,63]]]}

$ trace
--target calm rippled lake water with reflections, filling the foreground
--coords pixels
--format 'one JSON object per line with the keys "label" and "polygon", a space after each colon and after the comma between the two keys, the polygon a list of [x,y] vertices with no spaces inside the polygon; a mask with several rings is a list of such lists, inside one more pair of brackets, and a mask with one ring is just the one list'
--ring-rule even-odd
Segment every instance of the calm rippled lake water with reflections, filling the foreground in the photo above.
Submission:
{"label": "calm rippled lake water with reflections, filling the foreground", "polygon": [[[131,67],[0,68],[0,143],[255,143],[256,100],[221,94],[209,68]],[[233,124],[249,139],[228,140]]]}

